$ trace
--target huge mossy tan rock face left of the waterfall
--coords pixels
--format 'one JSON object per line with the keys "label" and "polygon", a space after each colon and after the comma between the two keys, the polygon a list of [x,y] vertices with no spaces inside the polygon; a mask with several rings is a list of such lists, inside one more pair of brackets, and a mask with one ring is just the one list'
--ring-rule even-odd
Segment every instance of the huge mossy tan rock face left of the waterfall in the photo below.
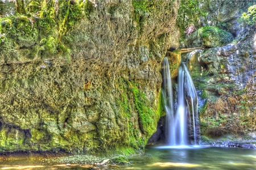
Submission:
{"label": "huge mossy tan rock face left of the waterfall", "polygon": [[159,71],[177,46],[179,2],[86,1],[75,24],[65,3],[75,9],[54,4],[49,27],[39,16],[2,21],[0,151],[143,149],[160,117]]}

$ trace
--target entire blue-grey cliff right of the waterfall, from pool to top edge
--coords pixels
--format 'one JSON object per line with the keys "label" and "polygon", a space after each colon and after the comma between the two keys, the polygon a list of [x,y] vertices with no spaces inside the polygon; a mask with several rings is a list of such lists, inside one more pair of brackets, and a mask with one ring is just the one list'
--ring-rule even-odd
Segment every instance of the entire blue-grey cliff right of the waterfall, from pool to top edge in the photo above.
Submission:
{"label": "entire blue-grey cliff right of the waterfall, from pool to top edge", "polygon": [[[212,18],[212,22],[201,27],[232,33],[234,40],[229,44],[206,45],[203,39],[198,39],[203,36],[199,31],[201,28],[186,37],[189,47],[205,46],[204,50],[183,56],[188,60],[199,92],[201,133],[204,136],[248,143],[255,140],[255,26],[241,22],[242,13],[253,4],[255,1],[203,3],[209,15],[202,18],[205,17],[205,21]],[[217,12],[210,12],[217,6]],[[223,31],[221,35],[225,37],[227,33]],[[216,39],[208,40],[216,43]]]}

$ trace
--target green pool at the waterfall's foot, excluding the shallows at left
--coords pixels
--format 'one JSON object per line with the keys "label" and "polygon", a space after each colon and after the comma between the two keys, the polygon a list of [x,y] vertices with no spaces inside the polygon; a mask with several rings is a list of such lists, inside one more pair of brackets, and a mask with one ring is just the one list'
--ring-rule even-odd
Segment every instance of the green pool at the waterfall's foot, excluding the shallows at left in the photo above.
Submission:
{"label": "green pool at the waterfall's foot, excluding the shallows at left", "polygon": [[151,146],[143,156],[130,160],[134,163],[133,169],[256,169],[256,150]]}

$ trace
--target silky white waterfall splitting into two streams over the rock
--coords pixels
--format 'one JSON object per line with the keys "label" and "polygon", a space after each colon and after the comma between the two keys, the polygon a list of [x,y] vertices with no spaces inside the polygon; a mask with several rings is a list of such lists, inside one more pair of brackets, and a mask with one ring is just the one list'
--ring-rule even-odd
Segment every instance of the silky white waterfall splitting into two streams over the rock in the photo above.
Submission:
{"label": "silky white waterfall splitting into two streams over the rock", "polygon": [[[163,59],[162,65],[162,95],[166,111],[166,139],[170,146],[183,146],[192,143],[196,145],[198,128],[196,88],[185,64],[181,62],[178,75],[177,109],[174,112],[171,74],[168,58]],[[188,129],[192,129],[188,131]],[[189,135],[193,142],[188,142]]]}

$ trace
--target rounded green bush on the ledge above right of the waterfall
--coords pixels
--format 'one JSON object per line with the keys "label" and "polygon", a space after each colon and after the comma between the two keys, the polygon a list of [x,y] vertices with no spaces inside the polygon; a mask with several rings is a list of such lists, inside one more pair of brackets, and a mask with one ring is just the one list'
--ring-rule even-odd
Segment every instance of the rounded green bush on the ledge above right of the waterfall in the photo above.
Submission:
{"label": "rounded green bush on the ledge above right of the waterfall", "polygon": [[199,34],[202,39],[208,38],[210,36],[216,37],[216,39],[220,40],[221,44],[228,44],[233,40],[233,36],[231,33],[224,29],[220,29],[218,27],[207,26],[199,29]]}

